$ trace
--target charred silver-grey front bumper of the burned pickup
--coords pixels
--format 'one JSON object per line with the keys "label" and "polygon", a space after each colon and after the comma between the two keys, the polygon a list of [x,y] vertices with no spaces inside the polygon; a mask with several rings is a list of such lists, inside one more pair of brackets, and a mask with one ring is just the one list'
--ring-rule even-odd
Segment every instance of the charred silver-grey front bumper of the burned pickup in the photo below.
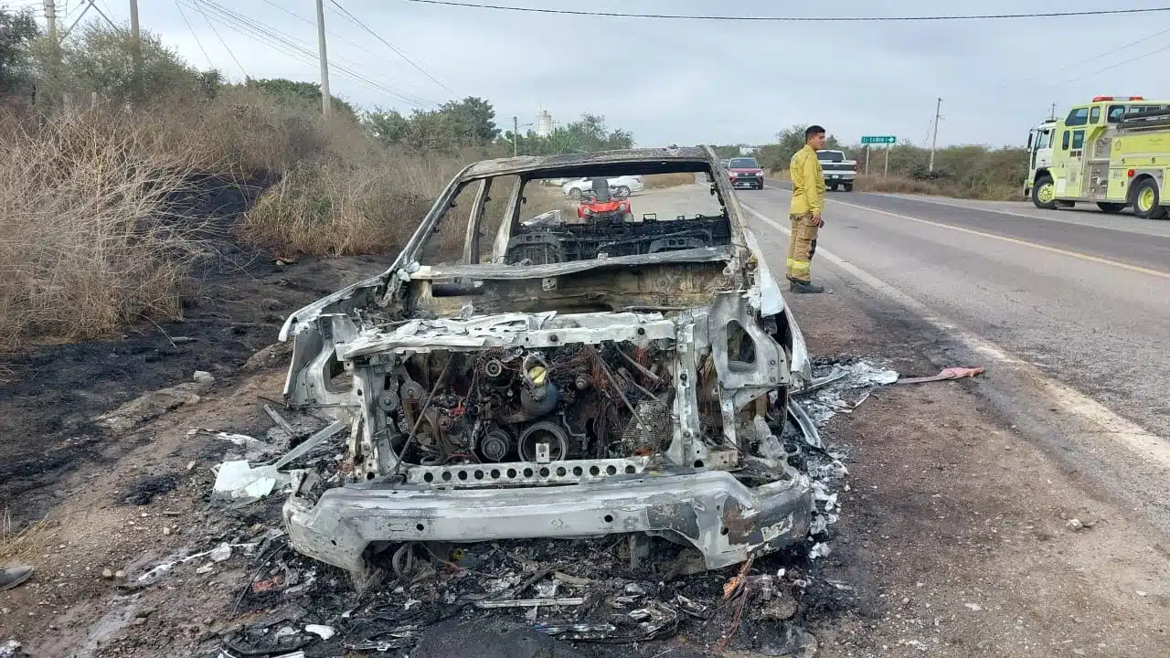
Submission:
{"label": "charred silver-grey front bumper of the burned pickup", "polygon": [[803,540],[813,509],[804,475],[752,488],[725,471],[703,469],[522,488],[355,484],[328,489],[316,502],[300,485],[284,505],[292,546],[356,573],[365,569],[366,549],[376,542],[626,533],[687,542],[708,569],[717,569]]}

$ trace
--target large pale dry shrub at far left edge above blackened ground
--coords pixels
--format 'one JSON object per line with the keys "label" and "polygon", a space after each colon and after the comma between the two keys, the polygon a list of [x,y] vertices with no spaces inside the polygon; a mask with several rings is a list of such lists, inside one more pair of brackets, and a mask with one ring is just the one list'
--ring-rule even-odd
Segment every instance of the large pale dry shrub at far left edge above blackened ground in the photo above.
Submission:
{"label": "large pale dry shrub at far left edge above blackened ground", "polygon": [[191,163],[153,139],[101,111],[0,126],[0,347],[180,313],[198,227],[168,208]]}

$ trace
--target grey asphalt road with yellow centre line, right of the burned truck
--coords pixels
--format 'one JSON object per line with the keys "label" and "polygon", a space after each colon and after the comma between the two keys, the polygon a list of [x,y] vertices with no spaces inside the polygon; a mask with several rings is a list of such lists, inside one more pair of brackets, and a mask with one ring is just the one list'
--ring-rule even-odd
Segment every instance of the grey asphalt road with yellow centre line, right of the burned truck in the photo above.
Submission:
{"label": "grey asphalt road with yellow centre line, right of the burned truck", "polygon": [[[790,194],[772,185],[738,194],[764,215],[752,224],[783,272]],[[917,304],[888,313],[930,315],[991,345],[968,358],[989,361],[1000,412],[1170,528],[1170,222],[858,192],[830,192],[825,222],[814,279],[847,293],[863,274]],[[1032,375],[993,376],[1000,352]],[[1045,382],[1083,399],[1053,399]],[[1131,425],[1097,421],[1110,414]],[[1126,450],[1142,441],[1145,454]]]}

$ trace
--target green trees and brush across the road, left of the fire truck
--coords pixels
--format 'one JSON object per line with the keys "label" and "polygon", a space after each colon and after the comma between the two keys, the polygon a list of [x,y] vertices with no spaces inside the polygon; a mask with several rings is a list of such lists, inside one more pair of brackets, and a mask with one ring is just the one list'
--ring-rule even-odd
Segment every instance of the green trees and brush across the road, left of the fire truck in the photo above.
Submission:
{"label": "green trees and brush across the road, left of the fire truck", "polygon": [[[793,125],[776,136],[775,144],[760,146],[753,157],[776,177],[786,176],[789,160],[804,146],[804,126]],[[839,149],[858,160],[856,190],[937,194],[963,199],[1010,200],[1020,198],[1027,177],[1027,151],[1018,146],[992,148],[980,144],[944,146],[935,152],[930,171],[930,150],[911,143],[896,144],[889,150],[889,176],[885,176],[885,148],[869,152],[866,171],[866,146],[844,145],[832,135],[826,149]],[[739,146],[718,146],[723,157],[739,155]]]}

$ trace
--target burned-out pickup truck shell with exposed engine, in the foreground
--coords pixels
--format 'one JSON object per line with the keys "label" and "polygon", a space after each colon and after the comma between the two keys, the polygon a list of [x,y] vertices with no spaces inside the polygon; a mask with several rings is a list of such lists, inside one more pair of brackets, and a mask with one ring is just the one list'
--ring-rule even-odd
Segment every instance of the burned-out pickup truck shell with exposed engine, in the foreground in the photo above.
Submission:
{"label": "burned-out pickup truck shell with exposed engine, in the foreground", "polygon": [[[343,484],[295,478],[292,544],[360,573],[400,542],[649,535],[714,569],[803,540],[780,437],[808,355],[720,171],[707,148],[473,164],[388,270],[289,317],[288,404],[349,436]],[[620,214],[539,184],[619,176],[648,181]]]}

